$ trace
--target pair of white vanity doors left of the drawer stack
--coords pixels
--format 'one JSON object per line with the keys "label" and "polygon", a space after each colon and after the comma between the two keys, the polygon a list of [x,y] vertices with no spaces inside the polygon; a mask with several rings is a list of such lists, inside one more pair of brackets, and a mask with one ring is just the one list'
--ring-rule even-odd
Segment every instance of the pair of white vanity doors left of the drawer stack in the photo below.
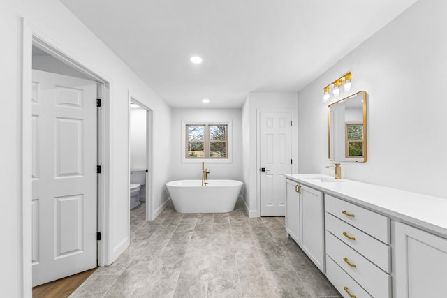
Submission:
{"label": "pair of white vanity doors left of the drawer stack", "polygon": [[325,271],[323,193],[286,179],[286,230],[321,271]]}

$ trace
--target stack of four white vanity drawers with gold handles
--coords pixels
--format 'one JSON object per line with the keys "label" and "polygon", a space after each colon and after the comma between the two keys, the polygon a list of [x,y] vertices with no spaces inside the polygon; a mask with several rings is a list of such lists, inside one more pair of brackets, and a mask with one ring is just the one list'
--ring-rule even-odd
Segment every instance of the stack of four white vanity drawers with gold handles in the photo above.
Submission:
{"label": "stack of four white vanity drawers with gold handles", "polygon": [[326,275],[344,297],[391,297],[390,218],[325,195]]}

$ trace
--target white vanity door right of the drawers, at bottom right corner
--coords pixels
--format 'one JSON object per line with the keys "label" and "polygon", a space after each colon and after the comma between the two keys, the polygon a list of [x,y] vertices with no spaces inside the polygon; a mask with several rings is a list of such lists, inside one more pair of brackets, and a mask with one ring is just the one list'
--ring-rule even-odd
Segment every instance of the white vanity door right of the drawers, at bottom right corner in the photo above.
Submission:
{"label": "white vanity door right of the drawers, at bottom right corner", "polygon": [[446,297],[447,239],[395,225],[396,297]]}

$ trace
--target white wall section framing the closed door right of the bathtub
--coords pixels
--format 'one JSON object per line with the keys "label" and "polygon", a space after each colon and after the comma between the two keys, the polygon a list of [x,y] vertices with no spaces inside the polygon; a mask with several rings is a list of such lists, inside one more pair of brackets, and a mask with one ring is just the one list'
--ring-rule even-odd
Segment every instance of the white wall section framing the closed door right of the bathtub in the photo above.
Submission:
{"label": "white wall section framing the closed door right of the bathtub", "polygon": [[292,121],[292,172],[298,171],[298,126],[297,94],[293,92],[252,92],[242,107],[243,177],[245,186],[245,208],[250,217],[260,216],[259,209],[259,165],[258,165],[258,114],[259,112],[291,111]]}

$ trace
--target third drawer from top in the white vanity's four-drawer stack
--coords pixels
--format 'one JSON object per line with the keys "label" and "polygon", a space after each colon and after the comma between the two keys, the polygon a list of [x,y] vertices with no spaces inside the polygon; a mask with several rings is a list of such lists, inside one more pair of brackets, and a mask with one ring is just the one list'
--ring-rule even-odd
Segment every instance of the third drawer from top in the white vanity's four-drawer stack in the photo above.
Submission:
{"label": "third drawer from top in the white vanity's four-drawer stack", "polygon": [[391,276],[326,232],[326,254],[373,297],[390,297]]}

